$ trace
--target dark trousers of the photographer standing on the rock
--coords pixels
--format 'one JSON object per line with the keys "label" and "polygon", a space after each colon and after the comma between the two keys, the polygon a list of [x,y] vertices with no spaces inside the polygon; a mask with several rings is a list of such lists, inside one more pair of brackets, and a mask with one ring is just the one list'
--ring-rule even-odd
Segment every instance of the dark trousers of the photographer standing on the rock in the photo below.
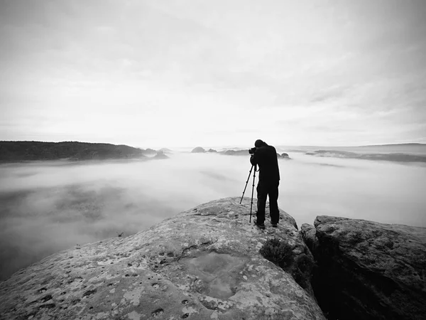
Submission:
{"label": "dark trousers of the photographer standing on the rock", "polygon": [[256,213],[257,223],[265,222],[266,197],[269,196],[269,215],[271,223],[278,223],[280,220],[280,211],[278,210],[278,185],[280,181],[264,182],[259,181],[256,191],[258,193],[258,211]]}

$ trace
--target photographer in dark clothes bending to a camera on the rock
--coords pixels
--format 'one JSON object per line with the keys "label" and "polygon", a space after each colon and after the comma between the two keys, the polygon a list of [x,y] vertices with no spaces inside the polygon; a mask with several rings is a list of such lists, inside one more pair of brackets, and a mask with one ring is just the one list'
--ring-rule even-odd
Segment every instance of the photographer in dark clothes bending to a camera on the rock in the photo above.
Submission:
{"label": "photographer in dark clothes bending to a camera on the rock", "polygon": [[269,196],[269,214],[271,225],[277,228],[280,212],[278,210],[278,185],[280,184],[280,169],[278,168],[277,151],[262,140],[254,143],[256,149],[250,157],[253,166],[259,166],[259,182],[257,191],[257,219],[254,223],[265,229],[266,197]]}

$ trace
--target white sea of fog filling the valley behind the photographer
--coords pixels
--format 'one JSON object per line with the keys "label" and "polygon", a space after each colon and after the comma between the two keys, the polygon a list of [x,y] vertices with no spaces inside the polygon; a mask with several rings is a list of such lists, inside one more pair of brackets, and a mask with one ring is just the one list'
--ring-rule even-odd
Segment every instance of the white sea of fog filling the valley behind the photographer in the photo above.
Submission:
{"label": "white sea of fog filling the valley behind the photographer", "polygon": [[[278,204],[297,225],[337,215],[426,227],[425,164],[289,154],[279,160]],[[241,197],[250,169],[249,154],[178,152],[163,160],[3,164],[0,279],[53,252]]]}

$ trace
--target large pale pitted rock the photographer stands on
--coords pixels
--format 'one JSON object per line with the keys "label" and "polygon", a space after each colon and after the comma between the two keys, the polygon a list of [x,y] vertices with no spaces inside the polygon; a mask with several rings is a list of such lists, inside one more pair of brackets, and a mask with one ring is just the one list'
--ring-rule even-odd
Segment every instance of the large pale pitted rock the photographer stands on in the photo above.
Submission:
{"label": "large pale pitted rock the photographer stands on", "polygon": [[1,282],[1,319],[324,319],[259,253],[275,237],[308,252],[295,220],[281,211],[263,232],[249,212],[249,198],[225,198],[46,257]]}

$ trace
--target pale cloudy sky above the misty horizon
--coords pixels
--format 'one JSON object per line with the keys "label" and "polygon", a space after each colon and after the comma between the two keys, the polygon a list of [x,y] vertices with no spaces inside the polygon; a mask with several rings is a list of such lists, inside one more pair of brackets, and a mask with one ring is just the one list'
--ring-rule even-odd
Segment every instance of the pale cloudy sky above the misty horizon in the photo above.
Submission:
{"label": "pale cloudy sky above the misty horizon", "polygon": [[426,142],[423,0],[0,6],[0,140]]}

